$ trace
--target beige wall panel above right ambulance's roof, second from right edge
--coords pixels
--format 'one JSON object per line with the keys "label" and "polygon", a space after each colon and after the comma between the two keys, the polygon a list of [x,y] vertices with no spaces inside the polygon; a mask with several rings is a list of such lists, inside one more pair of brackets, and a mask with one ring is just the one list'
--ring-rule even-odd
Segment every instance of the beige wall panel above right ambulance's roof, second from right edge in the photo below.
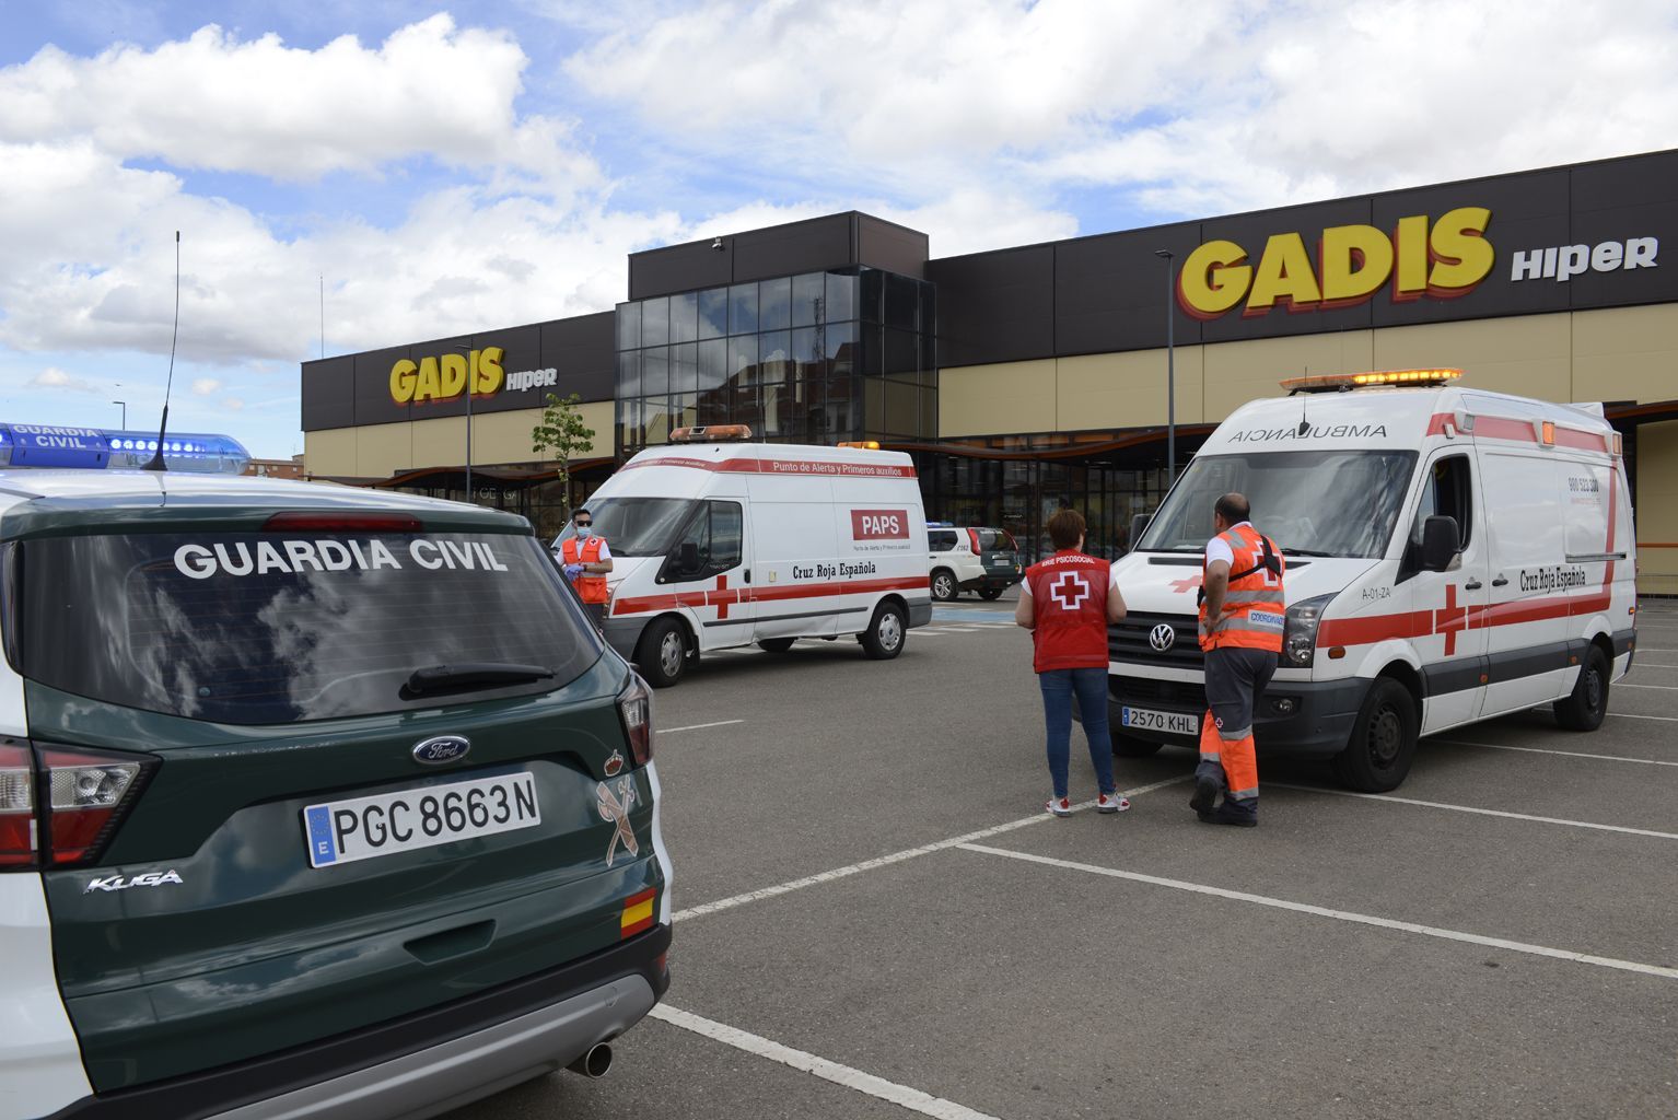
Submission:
{"label": "beige wall panel above right ambulance's roof, second from right edge", "polygon": [[1515,315],[1457,324],[1386,327],[1374,337],[1376,369],[1463,371],[1463,387],[1572,399],[1571,315]]}

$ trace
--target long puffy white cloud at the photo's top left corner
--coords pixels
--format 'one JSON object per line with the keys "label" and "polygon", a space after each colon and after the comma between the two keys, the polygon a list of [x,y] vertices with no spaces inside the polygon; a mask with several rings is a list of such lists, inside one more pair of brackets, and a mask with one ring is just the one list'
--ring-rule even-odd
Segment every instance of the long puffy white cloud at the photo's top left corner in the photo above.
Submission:
{"label": "long puffy white cloud at the photo's top left corner", "polygon": [[529,62],[512,35],[458,29],[446,13],[378,47],[344,35],[304,50],[272,34],[242,42],[215,25],[92,59],[44,47],[0,70],[0,141],[86,136],[119,159],[274,179],[430,154],[597,181],[592,161],[564,149],[565,126],[517,117]]}

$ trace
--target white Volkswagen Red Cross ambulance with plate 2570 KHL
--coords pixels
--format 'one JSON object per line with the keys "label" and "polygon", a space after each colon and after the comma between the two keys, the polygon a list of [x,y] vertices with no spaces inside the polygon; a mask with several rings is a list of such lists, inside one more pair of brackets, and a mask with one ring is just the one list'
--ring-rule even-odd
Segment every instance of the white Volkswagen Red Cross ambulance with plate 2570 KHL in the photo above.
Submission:
{"label": "white Volkswagen Red Cross ambulance with plate 2570 KHL", "polygon": [[1601,406],[1482,392],[1460,371],[1282,382],[1206,439],[1118,562],[1114,749],[1195,746],[1206,709],[1196,589],[1212,508],[1238,491],[1287,557],[1262,754],[1332,758],[1398,786],[1418,736],[1554,704],[1592,731],[1631,667],[1636,535]]}

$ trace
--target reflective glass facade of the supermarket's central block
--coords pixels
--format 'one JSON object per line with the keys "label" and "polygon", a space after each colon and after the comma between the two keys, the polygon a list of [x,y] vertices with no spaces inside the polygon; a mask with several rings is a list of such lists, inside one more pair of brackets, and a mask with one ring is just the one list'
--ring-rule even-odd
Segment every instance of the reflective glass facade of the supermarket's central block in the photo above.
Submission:
{"label": "reflective glass facade of the supermarket's central block", "polygon": [[769,443],[938,436],[933,285],[812,272],[618,305],[619,459],[675,428]]}

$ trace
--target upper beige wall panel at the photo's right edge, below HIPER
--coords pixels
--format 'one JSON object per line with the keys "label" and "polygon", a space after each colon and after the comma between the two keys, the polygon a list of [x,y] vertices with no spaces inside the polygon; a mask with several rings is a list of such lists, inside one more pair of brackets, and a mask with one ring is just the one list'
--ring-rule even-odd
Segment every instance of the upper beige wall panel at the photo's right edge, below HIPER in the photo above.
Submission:
{"label": "upper beige wall panel at the photo's right edge, below HIPER", "polygon": [[1574,401],[1678,399],[1678,303],[1574,312]]}

